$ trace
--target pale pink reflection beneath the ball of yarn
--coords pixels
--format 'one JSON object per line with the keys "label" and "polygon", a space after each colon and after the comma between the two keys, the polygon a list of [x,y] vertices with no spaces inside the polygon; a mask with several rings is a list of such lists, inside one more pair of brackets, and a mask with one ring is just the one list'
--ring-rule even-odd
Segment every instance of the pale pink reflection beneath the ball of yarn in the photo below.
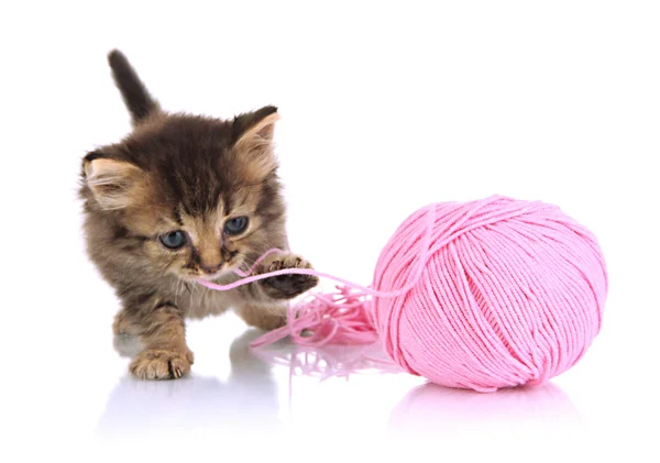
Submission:
{"label": "pale pink reflection beneath the ball of yarn", "polygon": [[410,390],[391,415],[402,437],[475,431],[568,429],[580,423],[569,396],[557,385],[475,393],[425,384]]}

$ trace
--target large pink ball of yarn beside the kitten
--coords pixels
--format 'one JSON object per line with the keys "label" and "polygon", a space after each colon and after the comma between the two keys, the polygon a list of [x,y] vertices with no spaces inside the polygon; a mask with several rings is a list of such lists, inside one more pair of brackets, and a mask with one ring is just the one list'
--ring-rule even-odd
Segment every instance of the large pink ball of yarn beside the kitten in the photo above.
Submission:
{"label": "large pink ball of yarn beside the kitten", "polygon": [[408,217],[373,288],[410,282],[402,296],[373,300],[386,353],[433,383],[481,392],[542,384],[573,366],[601,329],[607,294],[587,229],[556,206],[504,197]]}

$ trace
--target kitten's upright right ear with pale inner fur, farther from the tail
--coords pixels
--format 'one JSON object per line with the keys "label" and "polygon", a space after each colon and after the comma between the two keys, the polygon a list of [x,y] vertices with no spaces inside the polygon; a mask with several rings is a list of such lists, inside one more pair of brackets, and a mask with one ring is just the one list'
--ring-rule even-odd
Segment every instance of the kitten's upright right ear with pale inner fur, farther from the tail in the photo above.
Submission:
{"label": "kitten's upright right ear with pale inner fur, farther from the tail", "polygon": [[273,135],[278,120],[277,108],[272,106],[234,119],[233,147],[245,162],[243,175],[248,181],[261,181],[277,167],[273,154]]}

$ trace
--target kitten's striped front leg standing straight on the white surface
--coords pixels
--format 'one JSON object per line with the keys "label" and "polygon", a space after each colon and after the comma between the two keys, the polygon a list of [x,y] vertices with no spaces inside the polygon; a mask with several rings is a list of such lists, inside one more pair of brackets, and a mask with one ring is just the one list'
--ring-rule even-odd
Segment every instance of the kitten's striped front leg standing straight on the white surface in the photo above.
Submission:
{"label": "kitten's striped front leg standing straight on the white surface", "polygon": [[141,379],[174,379],[190,372],[193,352],[186,344],[186,327],[179,310],[161,305],[148,311],[121,310],[114,319],[116,334],[133,334],[144,349],[129,371]]}

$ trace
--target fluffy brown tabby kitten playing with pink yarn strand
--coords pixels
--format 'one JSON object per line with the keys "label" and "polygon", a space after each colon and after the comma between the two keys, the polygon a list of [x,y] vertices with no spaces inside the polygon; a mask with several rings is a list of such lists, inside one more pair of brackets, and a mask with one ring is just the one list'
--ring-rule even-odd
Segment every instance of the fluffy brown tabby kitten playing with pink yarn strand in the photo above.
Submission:
{"label": "fluffy brown tabby kitten playing with pink yarn strand", "polygon": [[[190,371],[185,319],[233,308],[265,330],[285,323],[284,300],[318,278],[286,275],[230,291],[195,283],[229,283],[271,247],[286,249],[285,206],[273,153],[277,109],[231,121],[164,112],[127,58],[109,55],[133,132],[82,161],[80,197],[90,258],[122,309],[116,334],[143,350],[130,371],[140,378],[178,378]],[[310,268],[295,254],[272,254],[255,271]]]}

